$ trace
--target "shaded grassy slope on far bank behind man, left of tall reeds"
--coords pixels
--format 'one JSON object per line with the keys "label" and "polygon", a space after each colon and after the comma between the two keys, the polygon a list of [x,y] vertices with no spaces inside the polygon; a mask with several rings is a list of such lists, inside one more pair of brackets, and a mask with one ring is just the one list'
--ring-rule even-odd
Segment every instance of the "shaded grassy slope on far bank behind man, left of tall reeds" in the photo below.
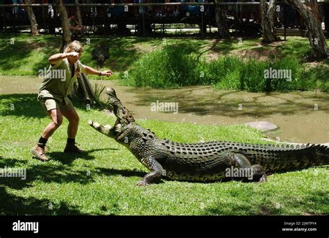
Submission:
{"label": "shaded grassy slope on far bank behind man, left of tall reeds", "polygon": [[[14,39],[14,44],[10,44]],[[29,34],[0,34],[0,75],[19,76],[37,75],[40,69],[49,67],[48,58],[54,53],[58,53],[62,37],[60,35],[39,35],[31,37]],[[97,67],[97,63],[92,59],[92,51],[99,44],[108,46],[110,58],[106,60],[102,69],[111,69],[115,74],[111,78],[118,78],[119,74],[130,69],[135,60],[144,53],[157,49],[163,42],[168,44],[176,43],[185,47],[189,51],[201,51],[210,44],[209,40],[187,41],[177,39],[162,38],[142,38],[142,37],[83,37],[85,52],[81,62],[90,67]],[[90,43],[90,44],[87,44]],[[98,78],[92,76],[92,78]]]}

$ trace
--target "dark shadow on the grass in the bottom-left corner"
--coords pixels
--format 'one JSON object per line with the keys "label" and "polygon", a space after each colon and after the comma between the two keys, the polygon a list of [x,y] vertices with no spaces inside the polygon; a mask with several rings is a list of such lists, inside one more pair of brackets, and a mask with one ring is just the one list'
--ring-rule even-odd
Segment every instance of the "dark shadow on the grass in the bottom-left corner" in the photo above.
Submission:
{"label": "dark shadow on the grass in the bottom-left corner", "polygon": [[48,199],[22,198],[9,194],[1,185],[0,200],[0,215],[85,215],[78,210],[78,207],[63,201],[53,203]]}

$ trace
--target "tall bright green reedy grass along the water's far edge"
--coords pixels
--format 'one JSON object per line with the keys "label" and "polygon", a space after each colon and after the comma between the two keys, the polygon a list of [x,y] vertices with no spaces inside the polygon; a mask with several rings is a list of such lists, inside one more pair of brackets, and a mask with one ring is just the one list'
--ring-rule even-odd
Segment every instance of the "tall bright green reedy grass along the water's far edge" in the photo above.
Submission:
{"label": "tall bright green reedy grass along the water's far edge", "polygon": [[242,60],[237,56],[221,56],[207,62],[205,58],[166,45],[153,51],[133,65],[124,85],[135,87],[168,88],[187,85],[214,85],[217,89],[247,90],[264,92],[267,90],[265,70],[289,70],[292,78],[271,79],[271,90],[314,90],[328,92],[329,67],[303,69],[295,58],[271,58],[267,61]]}

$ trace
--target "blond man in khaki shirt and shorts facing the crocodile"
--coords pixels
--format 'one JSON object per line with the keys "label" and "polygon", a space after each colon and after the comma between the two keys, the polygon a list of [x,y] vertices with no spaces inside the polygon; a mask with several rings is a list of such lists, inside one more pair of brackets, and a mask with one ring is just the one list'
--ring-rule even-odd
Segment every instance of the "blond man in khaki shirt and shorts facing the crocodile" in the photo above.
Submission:
{"label": "blond man in khaki shirt and shorts facing the crocodile", "polygon": [[51,67],[47,71],[47,75],[44,76],[37,99],[51,118],[51,123],[44,128],[39,142],[32,150],[33,155],[39,160],[49,160],[44,155],[44,146],[46,146],[47,139],[62,124],[62,116],[69,120],[67,145],[64,152],[83,153],[75,143],[79,117],[67,95],[71,94],[76,77],[80,72],[99,76],[110,76],[112,71],[98,71],[81,64],[79,59],[82,53],[83,46],[75,40],[67,46],[64,53],[56,53],[49,58]]}

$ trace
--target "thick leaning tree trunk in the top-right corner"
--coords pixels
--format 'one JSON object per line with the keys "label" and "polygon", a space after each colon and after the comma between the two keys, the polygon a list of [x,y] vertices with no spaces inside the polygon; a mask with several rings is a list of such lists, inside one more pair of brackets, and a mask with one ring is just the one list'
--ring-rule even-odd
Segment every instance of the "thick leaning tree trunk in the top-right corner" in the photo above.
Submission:
{"label": "thick leaning tree trunk in the top-right corner", "polygon": [[317,59],[327,58],[327,43],[321,28],[321,21],[317,16],[317,3],[314,3],[313,8],[311,8],[301,3],[300,0],[285,0],[285,2],[301,15],[310,40],[312,57]]}

